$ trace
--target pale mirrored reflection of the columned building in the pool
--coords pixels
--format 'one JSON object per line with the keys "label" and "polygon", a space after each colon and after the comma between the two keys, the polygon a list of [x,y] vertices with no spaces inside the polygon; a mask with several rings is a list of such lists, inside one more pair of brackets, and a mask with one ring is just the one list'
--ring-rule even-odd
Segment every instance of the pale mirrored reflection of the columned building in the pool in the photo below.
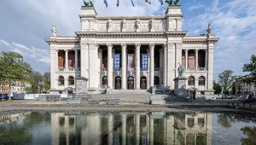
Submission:
{"label": "pale mirrored reflection of the columned building in the pool", "polygon": [[212,144],[212,113],[51,113],[52,144]]}

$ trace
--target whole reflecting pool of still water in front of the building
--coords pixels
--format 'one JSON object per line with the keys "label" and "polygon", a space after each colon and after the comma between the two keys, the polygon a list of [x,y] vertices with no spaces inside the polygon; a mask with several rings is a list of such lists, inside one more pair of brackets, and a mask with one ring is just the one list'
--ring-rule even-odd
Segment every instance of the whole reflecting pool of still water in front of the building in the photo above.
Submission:
{"label": "whole reflecting pool of still water in front of the building", "polygon": [[224,113],[0,113],[0,144],[256,144],[256,123]]}

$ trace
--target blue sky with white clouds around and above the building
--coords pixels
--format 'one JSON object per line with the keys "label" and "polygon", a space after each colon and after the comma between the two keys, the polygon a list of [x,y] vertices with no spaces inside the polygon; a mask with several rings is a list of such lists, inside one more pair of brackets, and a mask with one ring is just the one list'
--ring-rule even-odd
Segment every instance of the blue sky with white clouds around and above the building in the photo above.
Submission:
{"label": "blue sky with white clouds around and above the building", "polygon": [[[164,15],[167,4],[159,0],[95,0],[98,16]],[[256,55],[256,0],[180,0],[183,13],[183,31],[188,36],[207,32],[220,38],[214,51],[214,80],[230,69],[234,75],[245,75],[242,67]],[[83,0],[1,0],[0,51],[16,51],[24,56],[33,70],[49,72],[49,38],[51,26],[57,33],[75,36],[80,30],[79,14]]]}

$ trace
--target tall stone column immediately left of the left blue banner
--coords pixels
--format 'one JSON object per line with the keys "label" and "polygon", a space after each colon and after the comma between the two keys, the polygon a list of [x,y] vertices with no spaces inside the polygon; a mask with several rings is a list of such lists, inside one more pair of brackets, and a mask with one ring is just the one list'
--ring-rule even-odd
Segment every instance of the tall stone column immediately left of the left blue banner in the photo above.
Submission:
{"label": "tall stone column immediately left of the left blue banner", "polygon": [[113,44],[107,44],[108,46],[108,88],[113,89],[113,58],[112,48]]}

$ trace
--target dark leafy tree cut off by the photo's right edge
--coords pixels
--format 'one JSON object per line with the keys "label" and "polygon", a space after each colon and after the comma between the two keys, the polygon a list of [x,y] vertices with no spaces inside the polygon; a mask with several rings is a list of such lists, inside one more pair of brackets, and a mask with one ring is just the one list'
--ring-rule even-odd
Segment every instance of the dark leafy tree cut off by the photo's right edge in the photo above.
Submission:
{"label": "dark leafy tree cut off by the photo's right edge", "polygon": [[251,62],[244,64],[242,67],[242,72],[249,72],[250,74],[247,78],[244,78],[246,83],[256,84],[256,55],[251,56]]}

